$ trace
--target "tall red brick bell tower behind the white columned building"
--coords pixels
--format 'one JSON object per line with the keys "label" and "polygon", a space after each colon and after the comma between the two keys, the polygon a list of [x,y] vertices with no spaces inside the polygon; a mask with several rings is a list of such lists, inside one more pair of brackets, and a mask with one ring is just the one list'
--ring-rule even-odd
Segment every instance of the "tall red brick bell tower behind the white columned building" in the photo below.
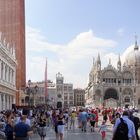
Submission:
{"label": "tall red brick bell tower behind the white columned building", "polygon": [[26,85],[24,0],[0,0],[0,32],[9,46],[15,47],[16,105],[19,105],[19,90]]}

